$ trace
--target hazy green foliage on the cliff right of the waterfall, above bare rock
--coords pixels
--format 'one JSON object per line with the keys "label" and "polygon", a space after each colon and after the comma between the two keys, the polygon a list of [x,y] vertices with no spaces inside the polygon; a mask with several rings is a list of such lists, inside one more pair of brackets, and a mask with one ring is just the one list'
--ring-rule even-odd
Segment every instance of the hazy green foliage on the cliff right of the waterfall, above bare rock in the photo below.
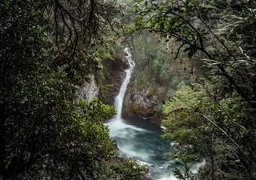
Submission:
{"label": "hazy green foliage on the cliff right of the waterfall, above bare rock", "polygon": [[[168,90],[176,89],[178,83],[186,79],[187,74],[178,69],[179,65],[166,52],[164,44],[150,32],[142,32],[134,39],[134,59],[136,66],[130,82],[130,94],[149,90],[148,95],[158,97],[159,106],[154,108],[154,115],[159,118],[162,116],[160,104],[168,96]],[[141,112],[136,106],[134,110]]]}

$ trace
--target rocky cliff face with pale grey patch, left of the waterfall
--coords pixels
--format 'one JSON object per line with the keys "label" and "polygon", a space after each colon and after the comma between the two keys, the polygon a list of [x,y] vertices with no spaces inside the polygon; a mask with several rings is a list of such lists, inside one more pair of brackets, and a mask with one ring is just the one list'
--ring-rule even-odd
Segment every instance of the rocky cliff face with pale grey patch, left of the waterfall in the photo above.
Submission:
{"label": "rocky cliff face with pale grey patch, left of the waterfall", "polygon": [[119,50],[113,59],[103,59],[102,67],[88,82],[78,86],[78,96],[86,98],[87,102],[98,97],[103,103],[114,105],[114,98],[125,76],[124,70],[128,68],[125,54]]}

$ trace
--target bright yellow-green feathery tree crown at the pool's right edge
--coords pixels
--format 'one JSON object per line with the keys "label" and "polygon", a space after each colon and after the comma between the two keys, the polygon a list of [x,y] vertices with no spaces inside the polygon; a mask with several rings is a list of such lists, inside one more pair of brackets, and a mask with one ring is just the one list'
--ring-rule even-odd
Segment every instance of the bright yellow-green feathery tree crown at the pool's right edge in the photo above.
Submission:
{"label": "bright yellow-green feathery tree crown at the pool's right edge", "polygon": [[162,137],[185,145],[193,143],[206,125],[198,110],[203,112],[203,108],[209,106],[205,93],[182,86],[162,107],[167,115],[166,120],[162,121],[162,125],[166,126]]}

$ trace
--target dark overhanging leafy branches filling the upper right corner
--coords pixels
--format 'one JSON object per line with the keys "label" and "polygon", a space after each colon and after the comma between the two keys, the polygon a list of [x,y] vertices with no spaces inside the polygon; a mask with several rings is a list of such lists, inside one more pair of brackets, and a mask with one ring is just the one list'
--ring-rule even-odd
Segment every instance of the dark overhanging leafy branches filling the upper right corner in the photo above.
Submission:
{"label": "dark overhanging leafy branches filling the upper right corner", "polygon": [[250,71],[254,50],[248,48],[252,43],[248,37],[255,36],[251,29],[255,24],[254,8],[251,1],[138,1],[135,26],[149,29],[167,41],[176,39],[180,42],[177,54],[183,50],[192,58],[201,52],[210,73],[216,75],[220,71],[216,76],[226,78],[233,90],[254,106],[254,72]]}

